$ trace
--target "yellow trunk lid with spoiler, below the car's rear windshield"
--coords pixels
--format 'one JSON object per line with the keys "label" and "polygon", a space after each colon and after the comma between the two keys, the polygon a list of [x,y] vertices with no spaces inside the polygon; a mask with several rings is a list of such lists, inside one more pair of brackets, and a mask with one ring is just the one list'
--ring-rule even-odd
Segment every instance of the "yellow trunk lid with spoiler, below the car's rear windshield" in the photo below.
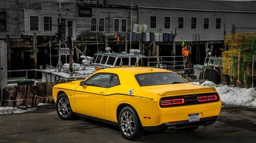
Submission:
{"label": "yellow trunk lid with spoiler, below the car's rear windshield", "polygon": [[154,92],[158,95],[188,94],[188,93],[196,93],[196,92],[216,91],[214,87],[205,87],[205,86],[200,86],[192,83],[144,86],[142,88],[148,92]]}

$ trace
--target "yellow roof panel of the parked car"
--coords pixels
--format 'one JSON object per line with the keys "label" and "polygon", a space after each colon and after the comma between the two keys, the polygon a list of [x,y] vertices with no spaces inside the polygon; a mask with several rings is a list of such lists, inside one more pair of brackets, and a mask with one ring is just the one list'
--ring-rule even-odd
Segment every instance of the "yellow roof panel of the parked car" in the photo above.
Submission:
{"label": "yellow roof panel of the parked car", "polygon": [[100,70],[98,72],[108,72],[108,73],[151,73],[151,72],[171,72],[169,70],[164,70],[161,68],[149,68],[149,67],[117,67],[117,68],[106,68],[104,70]]}

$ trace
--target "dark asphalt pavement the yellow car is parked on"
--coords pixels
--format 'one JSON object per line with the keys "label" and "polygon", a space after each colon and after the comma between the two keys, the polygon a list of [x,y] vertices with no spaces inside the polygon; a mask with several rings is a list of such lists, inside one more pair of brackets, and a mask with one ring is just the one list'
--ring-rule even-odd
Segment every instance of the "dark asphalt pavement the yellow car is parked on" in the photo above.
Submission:
{"label": "dark asphalt pavement the yellow car is parked on", "polygon": [[[117,126],[90,119],[61,120],[53,105],[23,114],[0,115],[0,142],[131,142]],[[135,142],[255,143],[256,108],[224,106],[217,121],[193,132],[148,132]]]}

